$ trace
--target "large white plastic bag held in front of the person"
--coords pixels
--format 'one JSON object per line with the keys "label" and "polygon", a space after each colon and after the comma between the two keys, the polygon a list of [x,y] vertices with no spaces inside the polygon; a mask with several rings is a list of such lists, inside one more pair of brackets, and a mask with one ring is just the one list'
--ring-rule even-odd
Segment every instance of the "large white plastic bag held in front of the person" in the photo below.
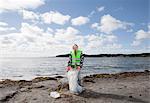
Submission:
{"label": "large white plastic bag held in front of the person", "polygon": [[69,81],[69,90],[71,93],[81,93],[83,91],[83,87],[78,84],[79,79],[79,71],[78,70],[69,70],[67,72],[67,77]]}

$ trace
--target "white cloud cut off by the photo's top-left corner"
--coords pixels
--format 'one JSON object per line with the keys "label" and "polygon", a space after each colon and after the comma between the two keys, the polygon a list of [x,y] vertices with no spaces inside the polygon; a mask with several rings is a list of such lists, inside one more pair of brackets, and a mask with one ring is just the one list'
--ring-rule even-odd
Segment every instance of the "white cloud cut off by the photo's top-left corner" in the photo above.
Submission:
{"label": "white cloud cut off by the photo's top-left corner", "polygon": [[45,4],[44,0],[0,0],[0,11],[35,9],[43,4]]}

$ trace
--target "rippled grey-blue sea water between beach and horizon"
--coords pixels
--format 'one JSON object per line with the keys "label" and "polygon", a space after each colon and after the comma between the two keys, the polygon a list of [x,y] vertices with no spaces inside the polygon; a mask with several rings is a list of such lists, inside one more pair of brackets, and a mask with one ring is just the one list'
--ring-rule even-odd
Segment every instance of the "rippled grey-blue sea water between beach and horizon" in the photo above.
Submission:
{"label": "rippled grey-blue sea water between beach and horizon", "polygon": [[[64,76],[66,57],[0,58],[0,80],[31,80],[35,77]],[[85,57],[81,75],[150,70],[150,57]]]}

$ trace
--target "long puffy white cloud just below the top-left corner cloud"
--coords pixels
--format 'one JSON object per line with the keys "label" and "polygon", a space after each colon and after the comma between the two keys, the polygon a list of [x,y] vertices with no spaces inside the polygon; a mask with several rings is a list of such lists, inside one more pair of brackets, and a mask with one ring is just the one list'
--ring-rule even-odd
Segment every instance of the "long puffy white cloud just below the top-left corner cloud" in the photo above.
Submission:
{"label": "long puffy white cloud just below the top-left corner cloud", "polygon": [[31,20],[32,22],[46,23],[46,24],[55,23],[59,25],[64,25],[71,18],[71,16],[63,15],[62,13],[57,11],[36,13],[28,10],[20,10],[20,14],[25,20]]}

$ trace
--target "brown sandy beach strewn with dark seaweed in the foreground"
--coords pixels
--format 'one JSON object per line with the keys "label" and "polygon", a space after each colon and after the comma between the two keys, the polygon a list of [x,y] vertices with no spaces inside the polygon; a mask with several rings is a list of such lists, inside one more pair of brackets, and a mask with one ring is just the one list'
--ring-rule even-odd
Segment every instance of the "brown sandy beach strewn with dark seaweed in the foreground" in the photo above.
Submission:
{"label": "brown sandy beach strewn with dark seaweed in the foreground", "polygon": [[[71,94],[64,77],[37,77],[33,80],[0,82],[0,103],[150,103],[150,71],[93,74],[84,76],[85,91]],[[61,97],[54,99],[50,92]]]}

